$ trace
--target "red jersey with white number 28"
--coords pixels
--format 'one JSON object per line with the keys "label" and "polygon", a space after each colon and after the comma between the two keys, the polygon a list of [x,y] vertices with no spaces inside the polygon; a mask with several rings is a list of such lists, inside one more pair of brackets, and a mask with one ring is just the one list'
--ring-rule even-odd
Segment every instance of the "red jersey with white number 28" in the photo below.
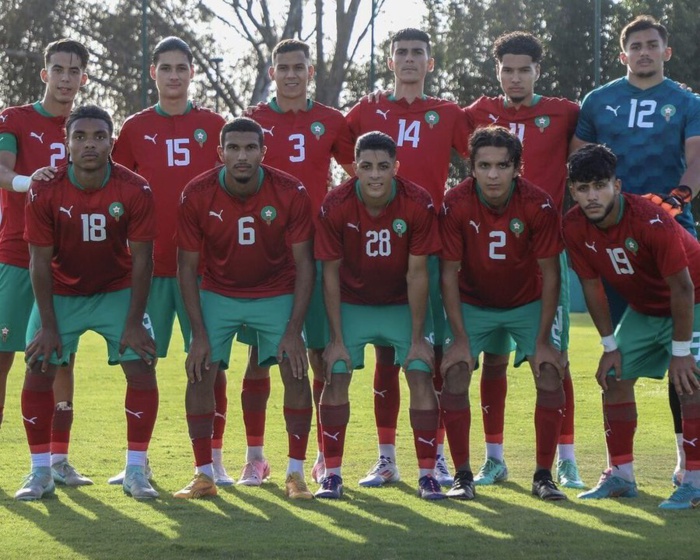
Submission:
{"label": "red jersey with white number 28", "polygon": [[349,179],[326,195],[314,243],[316,258],[342,259],[342,301],[405,304],[409,255],[440,251],[433,202],[426,190],[397,177],[393,199],[379,216],[371,216],[356,181]]}

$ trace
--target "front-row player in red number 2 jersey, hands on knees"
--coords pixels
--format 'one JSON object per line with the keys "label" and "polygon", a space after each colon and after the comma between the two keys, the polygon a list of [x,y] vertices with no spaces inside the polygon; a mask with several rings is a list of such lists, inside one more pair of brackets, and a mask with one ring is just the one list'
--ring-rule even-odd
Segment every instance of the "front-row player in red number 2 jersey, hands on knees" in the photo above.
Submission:
{"label": "front-row player in red number 2 jersey, hands on knees", "polygon": [[445,195],[440,223],[442,293],[454,337],[443,359],[441,395],[457,469],[451,492],[474,497],[469,382],[475,357],[492,336],[505,333],[529,360],[537,389],[532,493],[563,500],[551,474],[564,407],[561,354],[550,339],[559,298],[560,214],[547,193],[518,176],[522,146],[513,133],[479,128],[469,147],[472,176]]}

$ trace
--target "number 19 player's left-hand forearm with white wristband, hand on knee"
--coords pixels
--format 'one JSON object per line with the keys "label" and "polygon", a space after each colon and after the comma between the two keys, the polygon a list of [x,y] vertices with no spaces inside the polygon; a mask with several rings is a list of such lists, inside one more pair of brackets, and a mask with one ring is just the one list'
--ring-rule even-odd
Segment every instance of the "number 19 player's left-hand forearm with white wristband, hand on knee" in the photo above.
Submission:
{"label": "number 19 player's left-hand forearm with white wristband, hand on knee", "polygon": [[[581,278],[581,277],[580,277]],[[598,385],[603,389],[608,388],[608,372],[613,370],[615,378],[622,376],[622,356],[617,349],[617,343],[613,336],[612,319],[610,318],[610,307],[608,298],[605,295],[603,282],[598,278],[581,278],[583,297],[586,300],[588,313],[593,319],[593,324],[601,337],[603,345],[603,355],[600,357],[596,379]]]}

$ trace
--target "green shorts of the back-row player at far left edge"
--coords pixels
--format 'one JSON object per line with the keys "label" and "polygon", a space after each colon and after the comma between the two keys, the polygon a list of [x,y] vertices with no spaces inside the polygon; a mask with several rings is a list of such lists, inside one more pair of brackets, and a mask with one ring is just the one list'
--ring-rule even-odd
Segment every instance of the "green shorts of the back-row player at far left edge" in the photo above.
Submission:
{"label": "green shorts of the back-row player at far left edge", "polygon": [[0,352],[22,352],[34,305],[29,270],[0,264]]}

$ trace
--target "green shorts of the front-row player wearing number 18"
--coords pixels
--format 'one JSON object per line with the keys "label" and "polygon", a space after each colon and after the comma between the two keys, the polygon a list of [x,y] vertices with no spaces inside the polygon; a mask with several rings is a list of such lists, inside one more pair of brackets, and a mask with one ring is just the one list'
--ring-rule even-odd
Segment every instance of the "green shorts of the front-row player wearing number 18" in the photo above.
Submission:
{"label": "green shorts of the front-row player wearing number 18", "polygon": [[[63,356],[59,359],[54,352],[49,362],[61,366],[68,365],[69,356],[78,350],[80,336],[86,331],[95,331],[107,341],[107,356],[110,365],[140,360],[141,357],[131,348],[127,348],[123,354],[119,353],[119,343],[124,333],[130,301],[131,289],[129,288],[92,296],[54,295],[53,307],[58,323],[58,334],[63,346]],[[153,337],[153,326],[148,313],[143,316],[143,326]],[[31,342],[40,328],[41,317],[39,317],[39,309],[34,304],[27,328],[27,344]]]}

